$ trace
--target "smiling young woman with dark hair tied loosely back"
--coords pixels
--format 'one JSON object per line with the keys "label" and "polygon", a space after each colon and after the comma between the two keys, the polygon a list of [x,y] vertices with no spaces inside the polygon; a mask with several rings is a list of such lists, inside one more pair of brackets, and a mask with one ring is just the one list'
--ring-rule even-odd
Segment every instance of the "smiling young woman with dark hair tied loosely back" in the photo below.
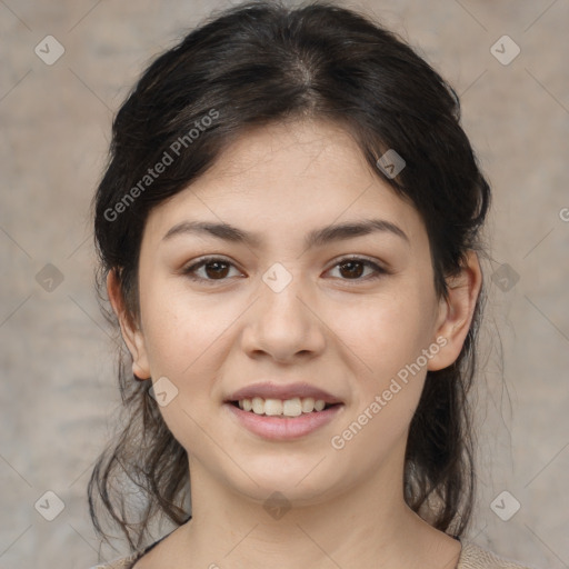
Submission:
{"label": "smiling young woman with dark hair tied loosely back", "polygon": [[102,567],[522,567],[462,538],[489,200],[452,89],[355,11],[241,4],[161,54],[94,200]]}

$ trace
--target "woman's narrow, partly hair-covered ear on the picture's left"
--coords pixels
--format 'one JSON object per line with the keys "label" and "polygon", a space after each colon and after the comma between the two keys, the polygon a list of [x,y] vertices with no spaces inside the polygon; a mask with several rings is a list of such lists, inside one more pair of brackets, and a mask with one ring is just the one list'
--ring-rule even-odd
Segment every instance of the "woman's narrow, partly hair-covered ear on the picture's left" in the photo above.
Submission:
{"label": "woman's narrow, partly hair-covered ear on the picture's left", "polygon": [[132,373],[139,379],[150,379],[150,367],[144,343],[144,337],[136,319],[128,313],[120,290],[119,278],[114,270],[107,276],[107,293],[120,323],[122,339],[132,356]]}

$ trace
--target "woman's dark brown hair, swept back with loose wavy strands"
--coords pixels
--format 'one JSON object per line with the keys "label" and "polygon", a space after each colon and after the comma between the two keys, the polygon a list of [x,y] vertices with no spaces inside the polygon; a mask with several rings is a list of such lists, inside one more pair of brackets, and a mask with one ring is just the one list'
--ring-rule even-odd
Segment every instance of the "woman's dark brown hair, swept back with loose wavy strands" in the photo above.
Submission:
{"label": "woman's dark brown hair, swept back with loose wavy strands", "polygon": [[[246,129],[302,119],[346,129],[377,176],[413,204],[429,236],[437,293],[446,296],[446,279],[460,271],[467,251],[481,250],[479,230],[490,201],[455,91],[402,39],[362,13],[325,1],[297,8],[258,1],[213,13],[160,54],[117,113],[93,200],[97,282],[114,325],[104,303],[106,277],[116,271],[127,316],[138,321],[137,270],[149,211],[188,188]],[[179,154],[171,164],[141,184],[173,148]],[[396,177],[378,167],[390,149],[405,160]],[[456,536],[466,530],[473,505],[467,393],[482,298],[457,361],[428,372],[406,452],[407,503]],[[151,382],[136,381],[131,363],[121,345],[124,420],[96,463],[88,496],[97,531],[104,536],[100,499],[138,549],[157,517],[178,526],[188,519],[190,473],[186,450],[149,397]],[[138,496],[126,493],[121,481]]]}

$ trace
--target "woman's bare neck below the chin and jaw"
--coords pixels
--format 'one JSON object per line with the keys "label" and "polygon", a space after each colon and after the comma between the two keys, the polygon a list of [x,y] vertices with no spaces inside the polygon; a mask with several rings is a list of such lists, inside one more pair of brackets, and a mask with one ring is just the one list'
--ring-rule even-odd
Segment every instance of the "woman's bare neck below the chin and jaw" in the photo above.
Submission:
{"label": "woman's bare neck below the chin and jaw", "polygon": [[[406,505],[401,468],[382,468],[365,483],[300,501],[282,489],[282,508],[269,508],[220,483],[190,458],[192,519],[178,531],[188,567],[361,567],[451,569],[460,545]],[[270,495],[271,492],[267,492]],[[278,506],[277,501],[271,503]],[[431,562],[429,562],[429,560]],[[178,569],[178,568],[177,568]]]}

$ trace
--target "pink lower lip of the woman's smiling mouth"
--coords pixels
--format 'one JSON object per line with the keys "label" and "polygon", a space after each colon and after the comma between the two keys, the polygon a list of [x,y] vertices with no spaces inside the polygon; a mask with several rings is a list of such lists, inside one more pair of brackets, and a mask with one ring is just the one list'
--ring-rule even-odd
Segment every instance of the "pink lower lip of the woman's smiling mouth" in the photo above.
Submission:
{"label": "pink lower lip of the woman's smiling mouth", "polygon": [[335,405],[323,411],[302,413],[299,417],[268,417],[243,411],[232,403],[224,403],[237,420],[251,432],[270,440],[291,440],[309,435],[329,423],[343,405]]}

